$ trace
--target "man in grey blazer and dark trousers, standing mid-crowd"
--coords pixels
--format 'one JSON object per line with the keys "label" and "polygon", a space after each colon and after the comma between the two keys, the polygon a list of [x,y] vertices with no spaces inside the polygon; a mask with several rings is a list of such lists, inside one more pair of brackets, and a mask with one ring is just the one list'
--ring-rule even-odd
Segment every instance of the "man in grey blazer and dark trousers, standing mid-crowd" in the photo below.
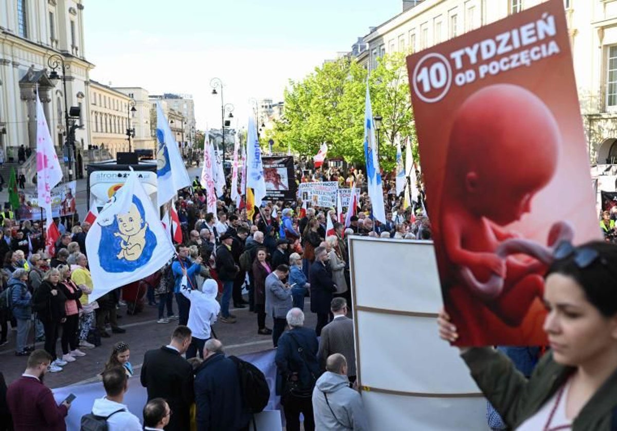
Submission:
{"label": "man in grey blazer and dark trousers, standing mid-crowd", "polygon": [[287,312],[291,310],[293,298],[291,287],[283,284],[283,280],[289,275],[287,265],[278,265],[276,269],[266,277],[266,313],[272,316],[272,342],[274,347],[278,345],[278,339],[285,331]]}

